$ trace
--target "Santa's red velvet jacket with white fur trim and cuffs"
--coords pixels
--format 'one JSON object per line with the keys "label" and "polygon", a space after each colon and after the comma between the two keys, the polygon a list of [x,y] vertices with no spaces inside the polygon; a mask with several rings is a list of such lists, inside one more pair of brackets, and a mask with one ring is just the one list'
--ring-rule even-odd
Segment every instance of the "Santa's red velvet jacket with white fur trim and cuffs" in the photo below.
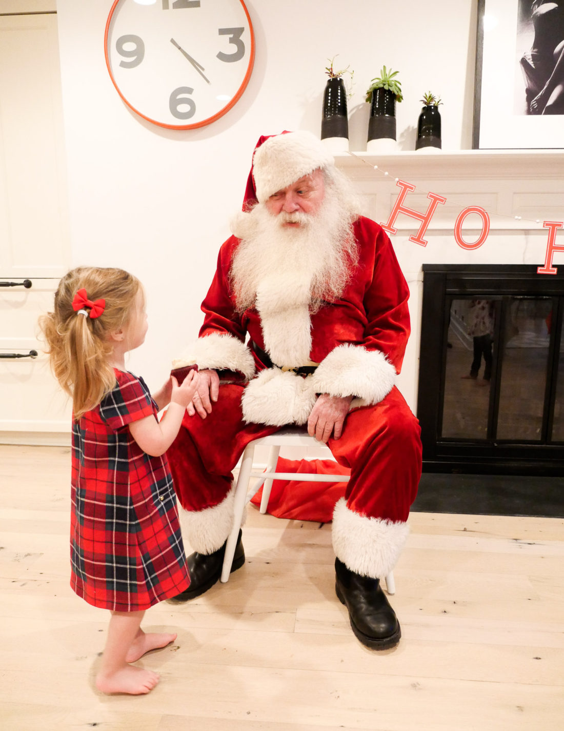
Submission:
{"label": "Santa's red velvet jacket with white fur trim and cuffs", "polygon": [[[273,272],[259,284],[255,308],[236,313],[229,270],[239,239],[232,236],[221,246],[202,303],[204,325],[186,353],[200,369],[239,371],[248,379],[242,401],[246,422],[303,424],[318,393],[354,395],[354,408],[378,403],[394,386],[410,332],[408,286],[378,224],[361,216],[354,235],[359,260],[346,289],[313,314],[309,281],[297,271],[291,281]],[[275,367],[264,365],[253,342]],[[305,378],[281,369],[308,361],[319,366]]]}

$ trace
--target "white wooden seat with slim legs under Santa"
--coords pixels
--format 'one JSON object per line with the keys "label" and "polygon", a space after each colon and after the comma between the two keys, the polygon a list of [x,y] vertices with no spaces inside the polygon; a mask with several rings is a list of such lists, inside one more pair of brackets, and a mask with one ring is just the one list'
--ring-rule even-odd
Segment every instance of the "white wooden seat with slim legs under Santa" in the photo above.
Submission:
{"label": "white wooden seat with slim legs under Santa", "polygon": [[[265,471],[253,471],[254,448],[259,446],[269,446],[270,453],[268,455],[267,469]],[[243,512],[245,505],[251,501],[251,498],[260,490],[262,490],[262,499],[260,512],[267,512],[268,499],[270,498],[270,490],[273,486],[273,480],[300,480],[303,482],[348,482],[350,479],[346,474],[295,474],[294,472],[276,472],[276,463],[281,447],[321,447],[322,442],[318,442],[314,436],[309,436],[308,432],[298,427],[281,429],[270,436],[262,436],[250,442],[243,452],[239,476],[237,477],[237,485],[235,486],[235,499],[233,505],[233,529],[225,547],[224,565],[221,569],[221,581],[226,583],[229,580],[233,556],[235,554],[235,546],[239,537],[239,530],[243,520]],[[331,452],[326,447],[329,456]],[[257,477],[258,482],[249,492],[249,482],[251,477]],[[389,572],[386,576],[386,591],[388,594],[395,594],[394,572]]]}

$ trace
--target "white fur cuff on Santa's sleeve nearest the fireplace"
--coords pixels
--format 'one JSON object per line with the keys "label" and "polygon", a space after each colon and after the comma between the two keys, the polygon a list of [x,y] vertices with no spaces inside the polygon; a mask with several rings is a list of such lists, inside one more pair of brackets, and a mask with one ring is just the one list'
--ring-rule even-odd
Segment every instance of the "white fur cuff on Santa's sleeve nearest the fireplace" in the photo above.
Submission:
{"label": "white fur cuff on Santa's sleeve nearest the fireplace", "polygon": [[358,396],[355,406],[378,404],[395,385],[392,363],[379,350],[362,345],[340,345],[321,361],[313,374],[316,393],[332,396]]}

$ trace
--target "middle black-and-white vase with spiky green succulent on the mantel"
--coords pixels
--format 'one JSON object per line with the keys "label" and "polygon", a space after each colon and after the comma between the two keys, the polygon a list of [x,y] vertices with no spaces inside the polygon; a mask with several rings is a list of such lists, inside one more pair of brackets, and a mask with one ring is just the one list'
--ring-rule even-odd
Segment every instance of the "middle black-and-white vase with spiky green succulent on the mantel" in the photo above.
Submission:
{"label": "middle black-and-white vase with spiky green succulent on the mantel", "polygon": [[403,99],[398,73],[384,66],[367,88],[366,101],[371,102],[368,152],[390,152],[396,148],[395,105]]}

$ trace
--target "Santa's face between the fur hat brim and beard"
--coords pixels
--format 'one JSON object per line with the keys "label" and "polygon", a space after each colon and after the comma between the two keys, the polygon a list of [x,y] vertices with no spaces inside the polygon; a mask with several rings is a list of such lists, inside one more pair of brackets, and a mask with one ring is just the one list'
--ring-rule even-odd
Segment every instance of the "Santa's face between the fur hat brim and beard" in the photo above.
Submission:
{"label": "Santa's face between the fur hat brim and beard", "polygon": [[325,183],[321,170],[291,183],[270,196],[264,205],[272,216],[280,216],[283,227],[297,228],[315,216],[325,197]]}

